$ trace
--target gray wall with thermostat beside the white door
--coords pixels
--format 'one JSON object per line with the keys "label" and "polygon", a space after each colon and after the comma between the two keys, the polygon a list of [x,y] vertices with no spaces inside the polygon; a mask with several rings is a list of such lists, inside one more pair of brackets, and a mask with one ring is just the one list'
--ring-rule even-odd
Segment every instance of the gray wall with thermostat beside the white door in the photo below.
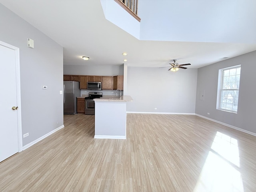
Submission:
{"label": "gray wall with thermostat beside the white door", "polygon": [[2,4],[0,26],[0,40],[20,48],[22,134],[29,132],[24,146],[63,125],[63,48]]}

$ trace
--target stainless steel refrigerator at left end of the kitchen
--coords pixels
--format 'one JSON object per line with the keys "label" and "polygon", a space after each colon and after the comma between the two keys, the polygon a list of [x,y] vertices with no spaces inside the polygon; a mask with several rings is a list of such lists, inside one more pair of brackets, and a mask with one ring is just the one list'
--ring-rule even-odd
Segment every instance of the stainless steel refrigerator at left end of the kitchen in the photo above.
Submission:
{"label": "stainless steel refrigerator at left end of the kitchen", "polygon": [[64,114],[77,114],[76,97],[80,96],[79,82],[63,81]]}

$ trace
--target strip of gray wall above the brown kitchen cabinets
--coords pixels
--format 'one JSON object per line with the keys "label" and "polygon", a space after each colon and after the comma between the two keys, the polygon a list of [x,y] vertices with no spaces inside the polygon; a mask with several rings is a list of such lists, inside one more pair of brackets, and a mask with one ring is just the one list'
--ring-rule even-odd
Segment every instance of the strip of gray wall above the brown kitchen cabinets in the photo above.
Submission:
{"label": "strip of gray wall above the brown kitchen cabinets", "polygon": [[[82,58],[81,58],[82,59]],[[86,61],[84,61],[86,62]],[[82,66],[82,65],[64,65],[63,74],[65,75],[99,75],[115,76],[124,74],[124,65],[119,66]]]}

